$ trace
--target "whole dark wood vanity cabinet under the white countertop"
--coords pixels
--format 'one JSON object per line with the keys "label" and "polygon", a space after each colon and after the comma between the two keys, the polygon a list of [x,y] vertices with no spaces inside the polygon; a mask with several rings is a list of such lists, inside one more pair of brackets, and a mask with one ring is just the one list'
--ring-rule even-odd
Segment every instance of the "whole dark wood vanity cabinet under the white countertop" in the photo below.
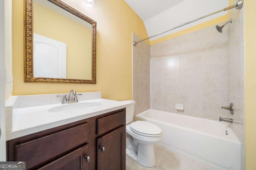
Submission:
{"label": "whole dark wood vanity cabinet under the white countertop", "polygon": [[125,117],[124,108],[12,139],[7,160],[27,170],[125,170]]}

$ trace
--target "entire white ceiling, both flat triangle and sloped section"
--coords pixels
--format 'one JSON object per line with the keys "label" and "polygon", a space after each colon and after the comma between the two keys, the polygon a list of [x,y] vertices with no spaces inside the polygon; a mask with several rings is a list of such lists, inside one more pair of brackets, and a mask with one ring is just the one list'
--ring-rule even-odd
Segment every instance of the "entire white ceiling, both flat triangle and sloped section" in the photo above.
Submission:
{"label": "entire white ceiling, both flat triangle and sloped section", "polygon": [[[228,7],[229,0],[125,0],[144,21],[148,36]],[[182,26],[150,39],[158,39],[226,15],[227,11]],[[146,37],[141,37],[146,38]]]}

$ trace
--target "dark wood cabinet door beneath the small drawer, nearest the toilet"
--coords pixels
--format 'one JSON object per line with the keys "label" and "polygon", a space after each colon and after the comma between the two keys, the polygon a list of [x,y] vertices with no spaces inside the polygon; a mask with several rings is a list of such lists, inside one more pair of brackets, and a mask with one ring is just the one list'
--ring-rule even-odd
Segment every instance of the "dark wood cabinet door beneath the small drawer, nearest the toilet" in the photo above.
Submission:
{"label": "dark wood cabinet door beneath the small drawer, nearest the toilet", "polygon": [[98,170],[125,170],[126,126],[98,139]]}

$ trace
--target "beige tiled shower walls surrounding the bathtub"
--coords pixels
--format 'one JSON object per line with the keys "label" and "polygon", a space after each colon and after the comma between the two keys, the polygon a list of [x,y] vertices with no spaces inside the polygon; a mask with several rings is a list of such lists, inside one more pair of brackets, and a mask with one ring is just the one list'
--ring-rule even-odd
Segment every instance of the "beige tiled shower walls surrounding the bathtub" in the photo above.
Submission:
{"label": "beige tiled shower walls surrounding the bathtub", "polygon": [[[133,100],[135,115],[150,107],[214,120],[232,118],[244,170],[244,8],[231,10],[229,18],[234,21],[222,33],[211,26],[155,45],[133,46]],[[133,41],[138,40],[133,33]],[[220,108],[231,102],[234,115]],[[176,110],[175,104],[184,104],[184,110]]]}

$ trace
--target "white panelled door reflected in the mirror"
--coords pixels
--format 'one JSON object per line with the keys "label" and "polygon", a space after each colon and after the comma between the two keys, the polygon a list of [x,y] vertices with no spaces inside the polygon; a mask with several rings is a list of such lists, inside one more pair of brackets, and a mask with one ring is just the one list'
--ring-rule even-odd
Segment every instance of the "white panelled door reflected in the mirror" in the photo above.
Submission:
{"label": "white panelled door reflected in the mirror", "polygon": [[34,77],[66,78],[66,43],[33,34]]}

